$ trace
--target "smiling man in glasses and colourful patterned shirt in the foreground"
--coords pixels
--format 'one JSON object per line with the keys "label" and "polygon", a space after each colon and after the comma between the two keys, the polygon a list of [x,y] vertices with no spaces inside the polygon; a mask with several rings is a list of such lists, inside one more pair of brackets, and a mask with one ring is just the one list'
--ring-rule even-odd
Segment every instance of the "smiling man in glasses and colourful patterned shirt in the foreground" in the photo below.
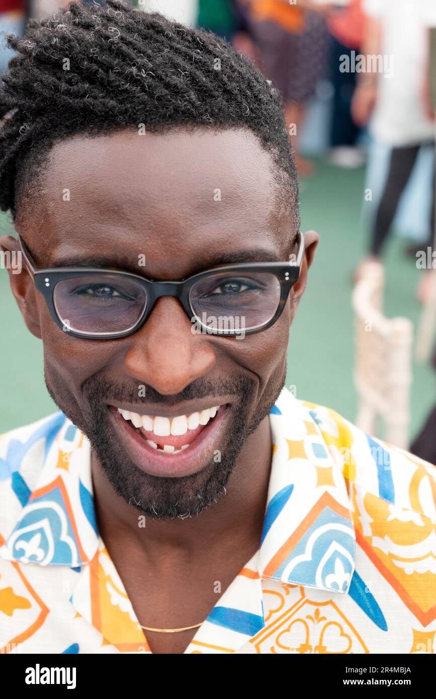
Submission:
{"label": "smiling man in glasses and colourful patterned shirt in the foreground", "polygon": [[279,96],[108,5],[12,39],[0,95],[1,245],[62,410],[0,441],[1,647],[430,653],[435,468],[283,388],[318,238]]}

